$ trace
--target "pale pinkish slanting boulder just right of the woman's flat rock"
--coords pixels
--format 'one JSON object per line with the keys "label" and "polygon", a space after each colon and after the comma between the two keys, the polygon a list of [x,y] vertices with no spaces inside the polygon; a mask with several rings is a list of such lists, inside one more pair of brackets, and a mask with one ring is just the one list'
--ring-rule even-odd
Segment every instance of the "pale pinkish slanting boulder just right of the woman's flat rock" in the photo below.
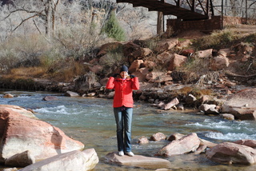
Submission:
{"label": "pale pinkish slanting boulder just right of the woman's flat rock", "polygon": [[194,152],[200,145],[200,139],[196,133],[190,133],[177,141],[171,141],[157,153],[159,156],[173,156]]}

